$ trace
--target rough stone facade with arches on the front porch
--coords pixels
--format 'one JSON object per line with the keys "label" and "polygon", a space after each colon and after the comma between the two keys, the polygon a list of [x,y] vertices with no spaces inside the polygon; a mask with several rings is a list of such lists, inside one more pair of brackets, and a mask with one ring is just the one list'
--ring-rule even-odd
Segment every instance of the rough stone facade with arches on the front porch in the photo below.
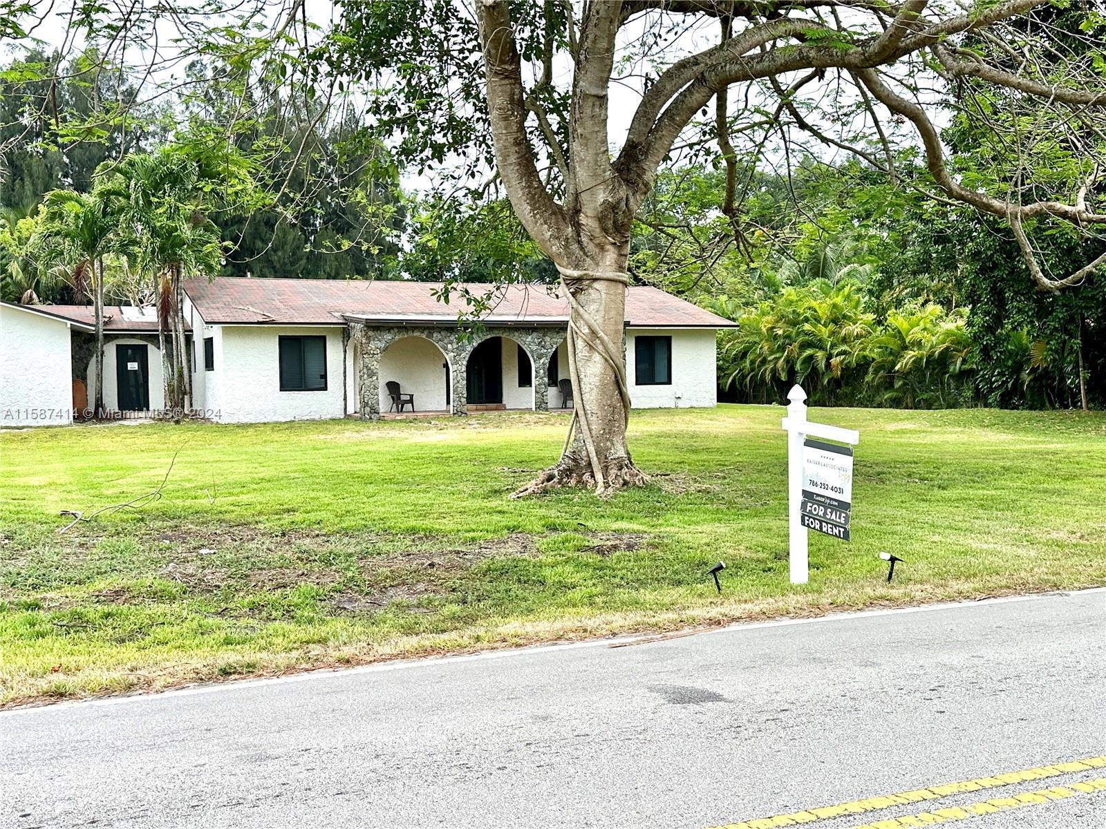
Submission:
{"label": "rough stone facade with arches on the front porch", "polygon": [[534,368],[534,408],[549,409],[549,378],[545,367],[550,357],[564,342],[566,328],[556,326],[514,326],[500,328],[489,326],[480,334],[465,339],[462,332],[453,326],[378,326],[366,323],[349,323],[351,339],[354,343],[354,366],[357,371],[358,411],[362,418],[376,420],[380,417],[380,355],[388,346],[403,337],[425,337],[441,349],[449,363],[450,411],[467,414],[469,355],[480,343],[490,337],[508,337],[520,343],[530,354]]}

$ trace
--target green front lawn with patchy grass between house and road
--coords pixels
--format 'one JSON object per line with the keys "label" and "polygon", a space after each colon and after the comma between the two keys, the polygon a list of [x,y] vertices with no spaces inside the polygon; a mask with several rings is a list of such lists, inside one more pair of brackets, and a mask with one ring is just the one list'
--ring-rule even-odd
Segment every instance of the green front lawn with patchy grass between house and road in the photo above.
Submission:
{"label": "green front lawn with patchy grass between house and road", "polygon": [[782,414],[635,412],[649,486],[521,502],[563,414],[0,433],[0,702],[1106,584],[1102,413],[813,410],[860,430],[853,541],[797,587]]}

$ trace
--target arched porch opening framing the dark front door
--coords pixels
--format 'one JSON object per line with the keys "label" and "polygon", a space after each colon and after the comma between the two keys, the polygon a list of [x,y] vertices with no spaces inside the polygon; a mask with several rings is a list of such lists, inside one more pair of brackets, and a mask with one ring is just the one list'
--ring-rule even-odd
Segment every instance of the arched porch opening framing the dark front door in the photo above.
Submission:
{"label": "arched porch opening framing the dark front door", "polygon": [[469,353],[466,363],[469,411],[534,409],[534,359],[512,337],[490,336]]}

